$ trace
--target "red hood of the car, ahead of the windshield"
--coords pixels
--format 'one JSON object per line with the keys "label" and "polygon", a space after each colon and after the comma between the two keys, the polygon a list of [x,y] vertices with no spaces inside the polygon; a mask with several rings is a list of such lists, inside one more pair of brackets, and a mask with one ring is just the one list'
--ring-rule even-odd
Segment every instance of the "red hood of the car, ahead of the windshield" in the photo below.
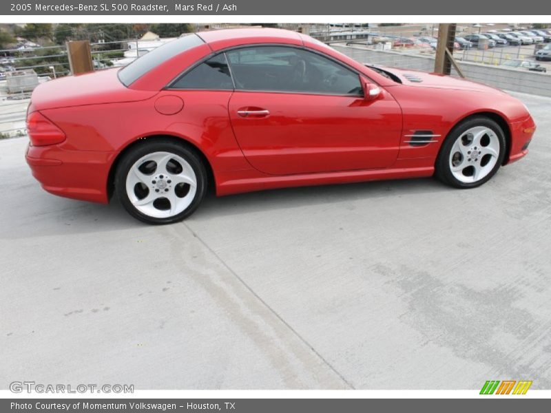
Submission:
{"label": "red hood of the car, ahead of the windshield", "polygon": [[472,92],[499,92],[506,94],[501,89],[483,85],[481,83],[468,81],[455,76],[448,76],[437,73],[420,72],[419,70],[403,70],[395,67],[377,66],[386,72],[390,72],[402,81],[403,85],[413,87],[431,87],[437,89],[455,89],[455,90],[470,90]]}

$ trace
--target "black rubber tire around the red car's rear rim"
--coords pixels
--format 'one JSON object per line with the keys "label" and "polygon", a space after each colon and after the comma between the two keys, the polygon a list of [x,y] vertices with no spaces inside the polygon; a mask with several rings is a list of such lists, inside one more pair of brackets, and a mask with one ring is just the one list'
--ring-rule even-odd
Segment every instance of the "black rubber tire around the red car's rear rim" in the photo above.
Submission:
{"label": "black rubber tire around the red car's rear rim", "polygon": [[[126,179],[132,166],[143,156],[147,156],[149,153],[154,152],[169,152],[180,156],[189,166],[191,166],[196,175],[196,193],[189,206],[180,213],[167,218],[156,218],[139,211],[130,201],[126,191]],[[143,143],[140,143],[129,152],[125,153],[116,167],[114,181],[115,193],[126,211],[134,218],[147,224],[171,224],[189,217],[189,215],[194,213],[199,207],[203,198],[205,198],[208,186],[208,176],[205,165],[203,165],[196,151],[184,143],[167,138],[150,138],[144,140]]]}

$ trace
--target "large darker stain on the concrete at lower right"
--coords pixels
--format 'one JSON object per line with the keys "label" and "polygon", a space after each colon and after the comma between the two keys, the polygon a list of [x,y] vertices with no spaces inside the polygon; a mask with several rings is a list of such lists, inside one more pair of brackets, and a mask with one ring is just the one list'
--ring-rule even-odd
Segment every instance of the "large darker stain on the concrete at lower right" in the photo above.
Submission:
{"label": "large darker stain on the concrete at lower right", "polygon": [[[515,305],[522,295],[514,285],[474,290],[460,280],[444,283],[441,277],[410,266],[377,264],[372,269],[402,290],[408,312],[399,318],[424,337],[425,345],[433,342],[457,357],[484,363],[488,377],[530,379],[537,388],[550,388],[550,360],[530,349],[543,348],[545,339],[551,341],[551,320],[542,324]],[[510,337],[508,343],[502,337]]]}

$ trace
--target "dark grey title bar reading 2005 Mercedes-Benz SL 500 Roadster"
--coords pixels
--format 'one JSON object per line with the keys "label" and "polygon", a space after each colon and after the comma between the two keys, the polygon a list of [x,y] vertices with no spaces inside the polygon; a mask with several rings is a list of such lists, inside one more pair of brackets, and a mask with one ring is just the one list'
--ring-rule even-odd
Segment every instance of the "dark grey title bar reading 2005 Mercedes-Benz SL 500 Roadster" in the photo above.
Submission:
{"label": "dark grey title bar reading 2005 Mercedes-Benz SL 500 Roadster", "polygon": [[[495,15],[510,17],[534,15],[545,20],[551,2],[541,0],[42,0],[1,1],[3,15]],[[534,21],[532,23],[543,21]]]}

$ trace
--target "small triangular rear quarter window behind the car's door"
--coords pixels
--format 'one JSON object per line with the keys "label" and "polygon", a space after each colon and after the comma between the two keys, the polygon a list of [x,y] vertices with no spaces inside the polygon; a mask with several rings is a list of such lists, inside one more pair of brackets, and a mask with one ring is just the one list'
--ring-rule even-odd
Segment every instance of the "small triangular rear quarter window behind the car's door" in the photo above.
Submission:
{"label": "small triangular rear quarter window behind the car's door", "polygon": [[171,85],[174,89],[233,90],[224,54],[218,54],[194,67]]}

